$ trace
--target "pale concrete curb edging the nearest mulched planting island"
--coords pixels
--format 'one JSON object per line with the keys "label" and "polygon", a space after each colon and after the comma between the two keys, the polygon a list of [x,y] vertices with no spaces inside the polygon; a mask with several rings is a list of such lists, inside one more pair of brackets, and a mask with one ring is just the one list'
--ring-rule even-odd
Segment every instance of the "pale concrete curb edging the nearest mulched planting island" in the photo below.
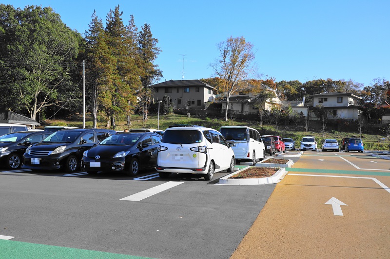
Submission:
{"label": "pale concrete curb edging the nearest mulched planting island", "polygon": [[230,176],[240,173],[247,169],[238,170],[237,172],[228,174],[222,178],[219,178],[219,185],[259,185],[259,184],[274,184],[280,181],[280,178],[287,173],[285,168],[280,168],[273,176],[264,178],[250,178],[250,179],[228,179]]}

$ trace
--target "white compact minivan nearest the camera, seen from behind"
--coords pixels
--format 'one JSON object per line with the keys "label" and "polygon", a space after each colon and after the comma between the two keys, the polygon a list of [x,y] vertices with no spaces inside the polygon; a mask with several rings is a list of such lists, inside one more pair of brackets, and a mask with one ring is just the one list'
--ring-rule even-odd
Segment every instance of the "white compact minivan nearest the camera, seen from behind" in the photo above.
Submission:
{"label": "white compact minivan nearest the camera, seen from behind", "polygon": [[161,178],[170,173],[204,174],[213,179],[215,172],[234,171],[235,158],[218,131],[201,126],[178,125],[165,130],[158,147],[156,170]]}

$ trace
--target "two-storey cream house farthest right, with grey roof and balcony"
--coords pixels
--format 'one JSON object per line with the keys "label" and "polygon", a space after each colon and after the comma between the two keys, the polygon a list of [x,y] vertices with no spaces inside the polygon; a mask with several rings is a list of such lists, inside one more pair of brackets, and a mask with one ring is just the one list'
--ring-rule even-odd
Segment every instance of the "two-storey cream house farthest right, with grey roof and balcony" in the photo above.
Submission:
{"label": "two-storey cream house farthest right, with grey roof and balcony", "polygon": [[[361,100],[359,96],[351,93],[331,92],[310,95],[313,107],[318,104],[330,110],[329,119],[357,120],[361,117],[362,111],[358,105]],[[316,120],[313,113],[310,113],[310,120]]]}

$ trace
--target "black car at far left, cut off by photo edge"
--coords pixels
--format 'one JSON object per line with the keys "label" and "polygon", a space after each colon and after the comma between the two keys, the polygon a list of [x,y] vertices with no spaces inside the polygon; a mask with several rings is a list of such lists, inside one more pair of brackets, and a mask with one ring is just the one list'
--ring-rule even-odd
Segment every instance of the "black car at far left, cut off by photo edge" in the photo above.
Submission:
{"label": "black car at far left, cut off by photo edge", "polygon": [[1,136],[0,161],[9,169],[20,168],[27,147],[39,143],[50,134],[52,133],[46,131],[20,131]]}

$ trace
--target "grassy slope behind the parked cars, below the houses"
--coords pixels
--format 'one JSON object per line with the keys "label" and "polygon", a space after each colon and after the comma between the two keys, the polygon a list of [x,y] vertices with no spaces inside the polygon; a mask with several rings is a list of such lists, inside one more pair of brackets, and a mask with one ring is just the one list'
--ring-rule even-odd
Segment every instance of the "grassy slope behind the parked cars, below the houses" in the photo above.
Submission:
{"label": "grassy slope behind the parked cars, below the houses", "polygon": [[[139,115],[134,115],[131,118],[131,126],[130,128],[153,128],[157,129],[157,115],[150,114],[148,115],[149,120],[146,123],[142,124],[142,117]],[[165,130],[169,125],[173,124],[192,124],[192,125],[201,125],[210,128],[214,128],[216,130],[219,129],[220,126],[226,125],[246,125],[252,128],[257,129],[261,135],[277,135],[282,138],[293,138],[295,141],[300,141],[304,136],[314,136],[318,143],[318,148],[321,147],[325,138],[335,138],[338,141],[341,141],[342,138],[346,137],[357,137],[358,133],[356,131],[351,132],[337,132],[331,131],[326,132],[326,135],[323,136],[320,131],[309,131],[304,132],[303,126],[296,126],[295,124],[291,125],[279,125],[277,128],[273,124],[264,124],[264,126],[260,126],[258,121],[223,121],[222,119],[210,119],[210,118],[199,118],[199,117],[191,117],[187,118],[185,115],[177,115],[172,114],[168,115],[164,118],[160,115],[159,119],[159,128]],[[73,127],[82,127],[82,117],[80,115],[73,115],[69,118],[59,119],[59,120],[47,120],[46,125],[62,125],[62,126],[73,126]],[[85,127],[92,128],[92,117],[87,114]],[[99,128],[105,128],[106,122],[98,122]],[[43,128],[43,127],[41,127]],[[117,121],[116,130],[123,130],[127,128],[126,121]],[[363,134],[363,143],[366,150],[389,150],[389,138],[386,140],[381,140],[381,138],[386,138],[386,136],[382,135],[371,135],[371,134]],[[299,143],[298,143],[299,145]]]}

